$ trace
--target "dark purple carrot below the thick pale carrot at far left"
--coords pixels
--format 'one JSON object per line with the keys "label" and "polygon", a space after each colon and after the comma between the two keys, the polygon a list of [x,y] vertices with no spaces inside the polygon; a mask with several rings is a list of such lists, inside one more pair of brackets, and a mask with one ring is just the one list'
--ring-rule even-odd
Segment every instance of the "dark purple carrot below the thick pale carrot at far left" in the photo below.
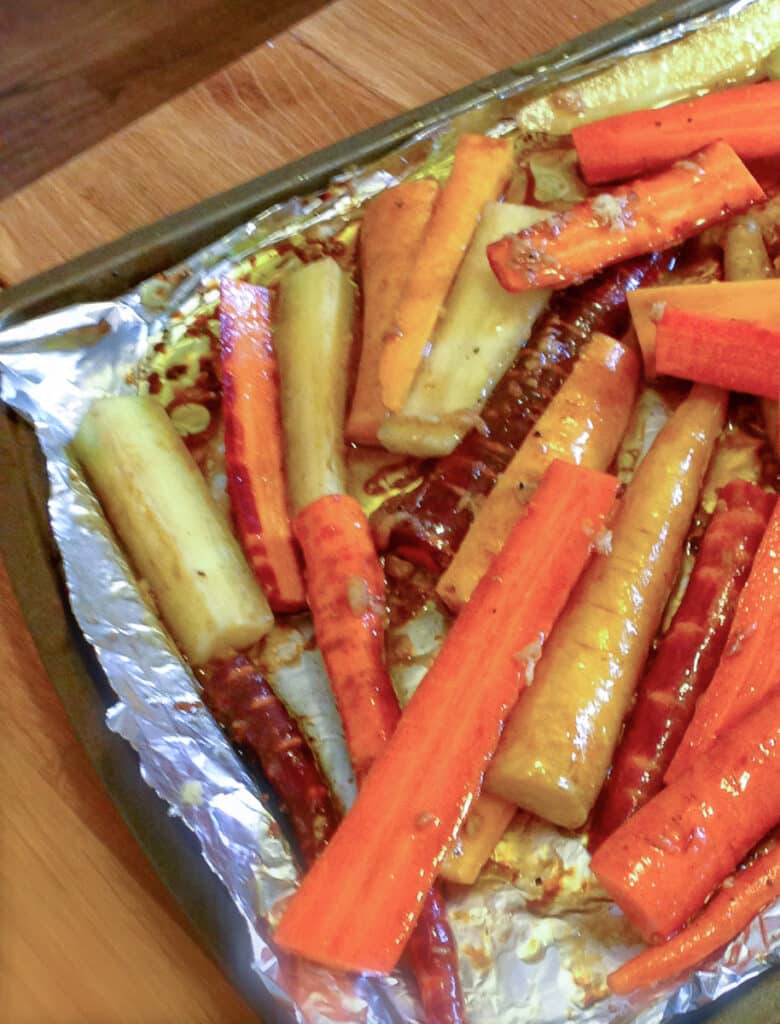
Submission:
{"label": "dark purple carrot below the thick pale carrot at far left", "polygon": [[230,738],[260,762],[287,807],[303,858],[311,864],[336,830],[339,815],[295,721],[243,655],[209,671],[203,698]]}

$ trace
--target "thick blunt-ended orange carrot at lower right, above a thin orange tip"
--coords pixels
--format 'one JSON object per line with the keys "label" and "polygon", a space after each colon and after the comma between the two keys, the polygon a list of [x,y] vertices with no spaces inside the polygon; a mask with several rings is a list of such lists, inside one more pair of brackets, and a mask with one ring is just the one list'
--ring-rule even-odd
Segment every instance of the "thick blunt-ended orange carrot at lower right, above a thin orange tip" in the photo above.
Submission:
{"label": "thick blunt-ended orange carrot at lower right, above a thin orange tip", "polygon": [[648,940],[696,913],[780,821],[780,692],[613,833],[591,867]]}

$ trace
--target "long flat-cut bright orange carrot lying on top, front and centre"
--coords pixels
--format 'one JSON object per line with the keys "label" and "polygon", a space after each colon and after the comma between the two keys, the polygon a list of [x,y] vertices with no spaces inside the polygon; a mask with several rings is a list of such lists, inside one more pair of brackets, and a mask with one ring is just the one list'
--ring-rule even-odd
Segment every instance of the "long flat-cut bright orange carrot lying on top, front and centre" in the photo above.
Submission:
{"label": "long flat-cut bright orange carrot lying on top, front and centre", "polygon": [[290,902],[276,930],[283,948],[346,970],[395,966],[502,720],[590,555],[586,524],[603,521],[615,489],[603,473],[550,467]]}

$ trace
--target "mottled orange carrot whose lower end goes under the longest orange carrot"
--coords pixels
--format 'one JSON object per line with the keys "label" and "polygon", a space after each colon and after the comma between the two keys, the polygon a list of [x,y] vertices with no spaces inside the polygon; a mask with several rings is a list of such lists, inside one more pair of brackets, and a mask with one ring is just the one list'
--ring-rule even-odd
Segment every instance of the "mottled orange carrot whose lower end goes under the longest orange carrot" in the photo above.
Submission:
{"label": "mottled orange carrot whose lower end goes under the longest orange carrot", "polygon": [[359,780],[400,717],[384,663],[385,575],[357,502],[328,495],[293,522],[306,562],[317,647]]}

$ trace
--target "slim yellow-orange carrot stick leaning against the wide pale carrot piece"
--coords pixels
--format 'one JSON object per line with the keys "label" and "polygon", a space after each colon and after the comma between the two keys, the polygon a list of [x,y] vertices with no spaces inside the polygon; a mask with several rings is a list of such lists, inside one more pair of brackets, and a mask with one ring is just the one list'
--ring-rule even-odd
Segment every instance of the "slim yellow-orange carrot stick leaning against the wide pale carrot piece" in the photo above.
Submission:
{"label": "slim yellow-orange carrot stick leaning against the wide pale carrot piece", "polygon": [[482,207],[499,199],[512,174],[512,142],[462,135],[452,171],[423,234],[380,360],[382,400],[403,406]]}

